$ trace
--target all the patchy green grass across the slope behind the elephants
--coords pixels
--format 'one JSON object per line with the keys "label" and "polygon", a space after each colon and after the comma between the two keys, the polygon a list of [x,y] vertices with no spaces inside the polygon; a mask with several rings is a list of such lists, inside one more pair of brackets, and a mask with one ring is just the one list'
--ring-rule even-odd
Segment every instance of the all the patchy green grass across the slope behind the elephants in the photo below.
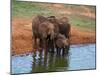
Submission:
{"label": "all the patchy green grass across the slope behind the elephants", "polygon": [[[71,15],[68,14],[61,14],[59,11],[48,8],[47,3],[33,3],[33,2],[19,2],[12,0],[12,17],[24,17],[24,18],[31,18],[34,15],[61,15],[61,16],[68,16],[71,25],[76,26],[81,29],[87,30],[95,30],[95,19],[91,19],[86,16],[82,16],[78,13],[86,12],[86,9],[89,9],[91,13],[95,14],[95,7],[94,6],[84,6],[84,5],[64,5],[64,8],[70,8],[71,10],[75,11],[72,12]],[[86,8],[86,9],[85,9]]]}

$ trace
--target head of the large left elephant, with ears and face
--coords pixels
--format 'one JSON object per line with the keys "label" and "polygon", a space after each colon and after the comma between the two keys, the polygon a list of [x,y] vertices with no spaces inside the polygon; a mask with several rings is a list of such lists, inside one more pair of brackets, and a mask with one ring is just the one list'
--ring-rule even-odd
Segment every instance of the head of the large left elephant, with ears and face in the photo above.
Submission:
{"label": "head of the large left elephant, with ears and face", "polygon": [[43,38],[50,38],[53,39],[55,36],[54,32],[54,24],[49,22],[49,21],[44,21],[43,23],[40,24],[39,26],[39,33]]}

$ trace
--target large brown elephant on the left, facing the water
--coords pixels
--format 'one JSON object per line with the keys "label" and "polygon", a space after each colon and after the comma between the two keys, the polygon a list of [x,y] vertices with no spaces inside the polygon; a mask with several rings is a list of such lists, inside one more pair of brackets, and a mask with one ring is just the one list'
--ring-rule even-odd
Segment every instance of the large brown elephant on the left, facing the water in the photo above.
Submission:
{"label": "large brown elephant on the left, facing the water", "polygon": [[33,31],[33,39],[34,45],[37,48],[37,39],[39,39],[39,46],[44,48],[48,45],[47,40],[54,39],[54,25],[44,16],[36,16],[32,21],[32,31]]}

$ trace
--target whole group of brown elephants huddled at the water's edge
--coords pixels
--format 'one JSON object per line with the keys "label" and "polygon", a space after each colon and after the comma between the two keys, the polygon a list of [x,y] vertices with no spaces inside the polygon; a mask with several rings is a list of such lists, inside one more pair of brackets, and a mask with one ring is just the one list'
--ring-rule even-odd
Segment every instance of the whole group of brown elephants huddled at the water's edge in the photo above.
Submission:
{"label": "whole group of brown elephants huddled at the water's edge", "polygon": [[32,30],[35,47],[38,45],[37,39],[40,48],[51,49],[51,52],[54,52],[55,47],[59,51],[69,45],[70,24],[67,17],[58,19],[55,16],[35,16]]}

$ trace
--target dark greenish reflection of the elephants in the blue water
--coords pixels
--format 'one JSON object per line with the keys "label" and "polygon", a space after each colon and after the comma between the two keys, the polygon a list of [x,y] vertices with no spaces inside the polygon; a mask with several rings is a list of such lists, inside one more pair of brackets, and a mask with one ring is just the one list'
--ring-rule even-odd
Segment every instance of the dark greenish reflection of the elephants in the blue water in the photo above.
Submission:
{"label": "dark greenish reflection of the elephants in the blue water", "polygon": [[[38,56],[40,56],[40,58],[38,58]],[[68,60],[66,56],[57,55],[56,53],[49,53],[43,50],[37,52],[35,57],[36,58],[34,58],[33,55],[34,62],[32,64],[32,73],[67,70]]]}

